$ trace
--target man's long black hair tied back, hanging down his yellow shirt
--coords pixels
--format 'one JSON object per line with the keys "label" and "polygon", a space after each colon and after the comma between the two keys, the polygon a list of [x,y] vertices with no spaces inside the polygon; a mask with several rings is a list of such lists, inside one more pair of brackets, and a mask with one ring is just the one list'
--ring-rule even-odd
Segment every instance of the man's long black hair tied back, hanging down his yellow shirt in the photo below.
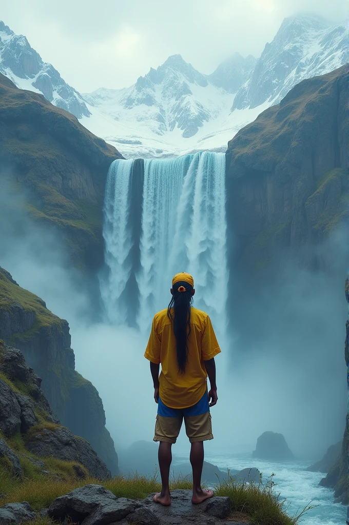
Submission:
{"label": "man's long black hair tied back, hanging down his yellow shirt", "polygon": [[[186,291],[178,291],[178,288],[181,286]],[[186,371],[188,361],[188,340],[191,332],[190,313],[193,302],[192,289],[193,287],[188,282],[176,282],[172,286],[173,295],[167,309],[167,317],[173,322],[173,331],[177,345],[177,362],[181,374]],[[174,316],[171,312],[172,308]]]}

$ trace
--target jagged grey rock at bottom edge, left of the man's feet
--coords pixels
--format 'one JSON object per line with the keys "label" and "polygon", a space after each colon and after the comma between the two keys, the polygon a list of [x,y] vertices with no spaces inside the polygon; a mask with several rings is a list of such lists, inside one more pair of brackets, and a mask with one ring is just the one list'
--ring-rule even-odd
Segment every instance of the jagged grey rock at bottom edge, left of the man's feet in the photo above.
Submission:
{"label": "jagged grey rock at bottom edge, left of the man's feet", "polygon": [[48,516],[63,521],[66,516],[73,522],[81,522],[97,507],[116,496],[101,485],[88,484],[56,498],[48,508]]}

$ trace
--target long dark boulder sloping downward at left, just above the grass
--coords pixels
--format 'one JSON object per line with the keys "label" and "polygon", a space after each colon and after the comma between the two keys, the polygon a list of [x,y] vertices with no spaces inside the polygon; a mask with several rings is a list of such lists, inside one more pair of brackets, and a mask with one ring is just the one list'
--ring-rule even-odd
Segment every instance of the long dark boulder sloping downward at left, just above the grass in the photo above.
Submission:
{"label": "long dark boulder sloping downward at left, just above the grass", "polygon": [[74,436],[66,427],[38,429],[27,439],[26,448],[37,456],[77,461],[97,479],[110,477],[110,471],[91,445],[85,439]]}

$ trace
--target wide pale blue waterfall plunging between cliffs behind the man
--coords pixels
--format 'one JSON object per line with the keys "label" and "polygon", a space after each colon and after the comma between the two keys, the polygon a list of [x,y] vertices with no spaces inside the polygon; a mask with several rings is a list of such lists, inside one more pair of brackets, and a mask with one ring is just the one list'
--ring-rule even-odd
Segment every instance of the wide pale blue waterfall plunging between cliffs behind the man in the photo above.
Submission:
{"label": "wide pale blue waterfall plunging between cliffs behind the man", "polygon": [[194,306],[207,311],[224,334],[224,154],[141,164],[116,160],[108,172],[104,211],[108,276],[101,291],[109,319],[146,332],[153,314],[167,307],[172,276],[188,271],[195,281]]}

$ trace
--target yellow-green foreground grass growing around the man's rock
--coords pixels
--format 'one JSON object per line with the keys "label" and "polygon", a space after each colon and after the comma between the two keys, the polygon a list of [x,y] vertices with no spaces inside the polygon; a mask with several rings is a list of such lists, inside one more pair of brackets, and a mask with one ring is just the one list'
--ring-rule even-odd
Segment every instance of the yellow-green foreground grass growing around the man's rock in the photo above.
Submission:
{"label": "yellow-green foreground grass growing around the man's rock", "polygon": [[[47,470],[56,467],[56,471],[60,471],[61,479],[57,478],[57,475],[43,476],[34,473],[31,479],[15,480],[12,484],[11,481],[8,481],[6,485],[5,477],[5,484],[2,483],[2,486],[5,487],[3,490],[7,493],[6,499],[3,500],[4,504],[15,501],[29,501],[30,506],[37,511],[48,507],[55,498],[88,483],[102,485],[114,493],[116,497],[132,499],[143,499],[151,492],[161,490],[157,472],[153,476],[140,476],[136,472],[133,476],[115,476],[113,479],[102,481],[88,476],[85,479],[77,479],[72,470],[73,464],[55,460],[56,465],[54,465],[54,463],[50,463],[53,458],[44,458],[44,460],[47,464]],[[62,463],[67,463],[64,472]],[[275,491],[276,484],[273,482],[273,476],[274,474],[271,475],[266,484],[261,481],[257,484],[246,483],[241,480],[235,481],[228,474],[228,479],[215,486],[215,496],[228,496],[233,503],[232,516],[235,518],[248,516],[249,523],[253,525],[296,525],[300,522],[304,512],[312,507],[309,505],[293,516],[289,516],[286,512],[285,500],[281,500],[280,494]],[[0,473],[0,484],[3,481],[4,471],[2,474]],[[171,490],[191,488],[191,482],[183,477],[172,479],[170,482]],[[34,523],[45,525],[50,521],[33,521],[32,525]]]}

